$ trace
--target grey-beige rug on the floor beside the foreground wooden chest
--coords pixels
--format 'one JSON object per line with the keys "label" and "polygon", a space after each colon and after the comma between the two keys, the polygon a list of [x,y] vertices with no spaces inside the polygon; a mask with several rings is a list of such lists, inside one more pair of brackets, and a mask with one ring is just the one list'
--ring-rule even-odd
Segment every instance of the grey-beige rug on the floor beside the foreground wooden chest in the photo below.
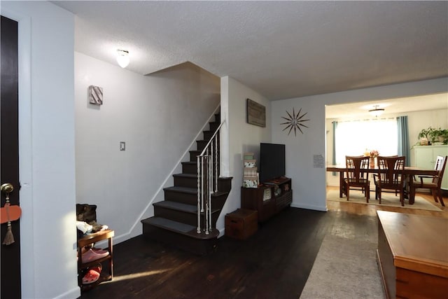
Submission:
{"label": "grey-beige rug on the floor beside the foreground wooden chest", "polygon": [[385,298],[376,249],[376,242],[326,235],[300,298]]}

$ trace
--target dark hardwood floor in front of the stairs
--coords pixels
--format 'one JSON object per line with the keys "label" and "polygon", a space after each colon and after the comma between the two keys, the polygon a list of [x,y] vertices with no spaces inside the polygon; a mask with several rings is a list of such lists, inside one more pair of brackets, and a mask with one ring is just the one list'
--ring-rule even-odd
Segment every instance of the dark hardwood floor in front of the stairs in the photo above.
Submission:
{"label": "dark hardwood floor in front of the stairs", "polygon": [[342,214],[288,208],[244,241],[221,237],[207,256],[135,237],[114,246],[113,280],[80,298],[299,298]]}

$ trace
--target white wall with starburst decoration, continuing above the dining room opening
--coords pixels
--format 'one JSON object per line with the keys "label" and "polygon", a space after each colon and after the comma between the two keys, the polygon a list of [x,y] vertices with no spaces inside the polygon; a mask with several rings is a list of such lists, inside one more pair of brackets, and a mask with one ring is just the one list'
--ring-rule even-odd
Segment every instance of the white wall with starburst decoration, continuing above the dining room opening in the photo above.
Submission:
{"label": "white wall with starburst decoration, continuing above the dining room opening", "polygon": [[[272,142],[286,144],[286,175],[293,180],[293,207],[325,211],[325,167],[314,168],[313,156],[325,158],[325,104],[363,102],[447,92],[448,78],[386,85],[271,102]],[[307,112],[309,129],[297,137],[281,132],[281,116],[292,109]],[[412,129],[414,130],[414,129]],[[410,136],[412,138],[412,136]],[[326,142],[330,142],[326,140]],[[328,160],[328,159],[327,159]]]}

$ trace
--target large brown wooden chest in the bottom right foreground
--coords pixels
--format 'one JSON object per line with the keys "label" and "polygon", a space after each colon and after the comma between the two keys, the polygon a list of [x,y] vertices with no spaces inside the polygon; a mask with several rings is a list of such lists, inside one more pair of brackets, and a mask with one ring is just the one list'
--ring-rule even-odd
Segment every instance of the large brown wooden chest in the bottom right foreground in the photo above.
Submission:
{"label": "large brown wooden chest in the bottom right foreground", "polygon": [[447,298],[448,219],[377,211],[386,298]]}

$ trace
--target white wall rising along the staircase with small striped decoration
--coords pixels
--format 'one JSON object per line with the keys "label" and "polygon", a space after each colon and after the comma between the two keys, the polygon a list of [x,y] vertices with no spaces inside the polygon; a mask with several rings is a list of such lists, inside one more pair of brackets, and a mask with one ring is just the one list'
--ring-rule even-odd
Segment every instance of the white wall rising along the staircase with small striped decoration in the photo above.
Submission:
{"label": "white wall rising along the staircase with small striped decoration", "polygon": [[[89,103],[89,85],[103,88],[103,105]],[[181,172],[219,92],[220,79],[193,64],[141,76],[75,53],[76,202],[97,204],[97,222],[115,230],[115,243],[141,235],[140,220],[173,185],[172,170]]]}

